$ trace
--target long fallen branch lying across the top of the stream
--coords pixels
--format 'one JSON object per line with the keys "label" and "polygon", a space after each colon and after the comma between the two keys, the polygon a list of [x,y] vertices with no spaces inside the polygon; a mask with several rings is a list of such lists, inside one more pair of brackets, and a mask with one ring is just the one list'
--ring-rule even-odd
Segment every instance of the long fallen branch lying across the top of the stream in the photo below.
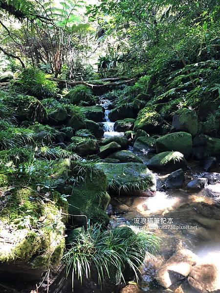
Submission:
{"label": "long fallen branch lying across the top of the stream", "polygon": [[132,78],[130,80],[126,80],[126,81],[121,81],[119,83],[113,82],[113,83],[108,83],[108,84],[89,84],[89,83],[83,82],[83,81],[71,82],[71,81],[60,80],[58,78],[51,78],[51,77],[49,79],[52,80],[52,81],[54,81],[54,82],[57,82],[59,84],[68,84],[68,85],[71,85],[71,86],[83,84],[83,85],[86,85],[86,86],[88,86],[90,88],[94,88],[94,89],[96,89],[96,88],[104,88],[104,87],[109,87],[109,86],[118,86],[118,85],[122,85],[122,84],[130,84],[130,83],[135,82],[135,79],[134,78]]}

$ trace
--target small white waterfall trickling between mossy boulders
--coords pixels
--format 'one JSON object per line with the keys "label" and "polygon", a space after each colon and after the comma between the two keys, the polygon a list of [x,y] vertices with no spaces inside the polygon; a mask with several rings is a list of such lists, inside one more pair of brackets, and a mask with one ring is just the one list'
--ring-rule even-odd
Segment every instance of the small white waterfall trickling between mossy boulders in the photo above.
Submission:
{"label": "small white waterfall trickling between mossy boulders", "polygon": [[105,109],[105,122],[103,122],[103,128],[105,131],[104,137],[123,136],[124,132],[114,131],[114,122],[111,122],[109,119],[110,109],[108,109],[108,108],[110,105],[110,100],[101,99],[100,105],[103,106],[103,108]]}

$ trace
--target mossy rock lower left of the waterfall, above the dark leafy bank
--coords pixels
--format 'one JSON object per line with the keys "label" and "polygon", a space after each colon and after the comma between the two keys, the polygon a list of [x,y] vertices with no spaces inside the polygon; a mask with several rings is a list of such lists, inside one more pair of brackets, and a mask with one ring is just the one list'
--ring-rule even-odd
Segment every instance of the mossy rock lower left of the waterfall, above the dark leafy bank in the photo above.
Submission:
{"label": "mossy rock lower left of the waterfall, above the dark leafy bank", "polygon": [[73,136],[71,141],[72,143],[67,146],[67,149],[82,157],[97,154],[99,152],[99,145],[94,139]]}

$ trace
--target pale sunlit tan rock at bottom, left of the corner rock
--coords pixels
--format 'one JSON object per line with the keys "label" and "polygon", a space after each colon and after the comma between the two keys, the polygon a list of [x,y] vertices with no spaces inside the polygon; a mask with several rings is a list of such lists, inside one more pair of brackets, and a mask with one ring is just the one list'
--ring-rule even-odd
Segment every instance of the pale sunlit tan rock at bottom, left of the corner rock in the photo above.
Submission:
{"label": "pale sunlit tan rock at bottom, left of the corner rock", "polygon": [[191,272],[192,266],[195,266],[197,262],[198,256],[192,251],[179,250],[157,270],[155,279],[164,288],[169,288],[177,280],[186,277]]}

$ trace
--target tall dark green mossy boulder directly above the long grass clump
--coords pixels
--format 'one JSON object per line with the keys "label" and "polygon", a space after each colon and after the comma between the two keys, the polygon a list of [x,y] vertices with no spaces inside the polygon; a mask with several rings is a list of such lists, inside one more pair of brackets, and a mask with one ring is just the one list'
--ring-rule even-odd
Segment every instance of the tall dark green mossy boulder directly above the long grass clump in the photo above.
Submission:
{"label": "tall dark green mossy boulder directly above the long grass clump", "polygon": [[102,171],[89,171],[86,179],[73,188],[72,195],[67,200],[74,224],[83,226],[90,219],[92,223],[108,225],[109,216],[106,209],[110,196],[107,193],[107,179]]}

